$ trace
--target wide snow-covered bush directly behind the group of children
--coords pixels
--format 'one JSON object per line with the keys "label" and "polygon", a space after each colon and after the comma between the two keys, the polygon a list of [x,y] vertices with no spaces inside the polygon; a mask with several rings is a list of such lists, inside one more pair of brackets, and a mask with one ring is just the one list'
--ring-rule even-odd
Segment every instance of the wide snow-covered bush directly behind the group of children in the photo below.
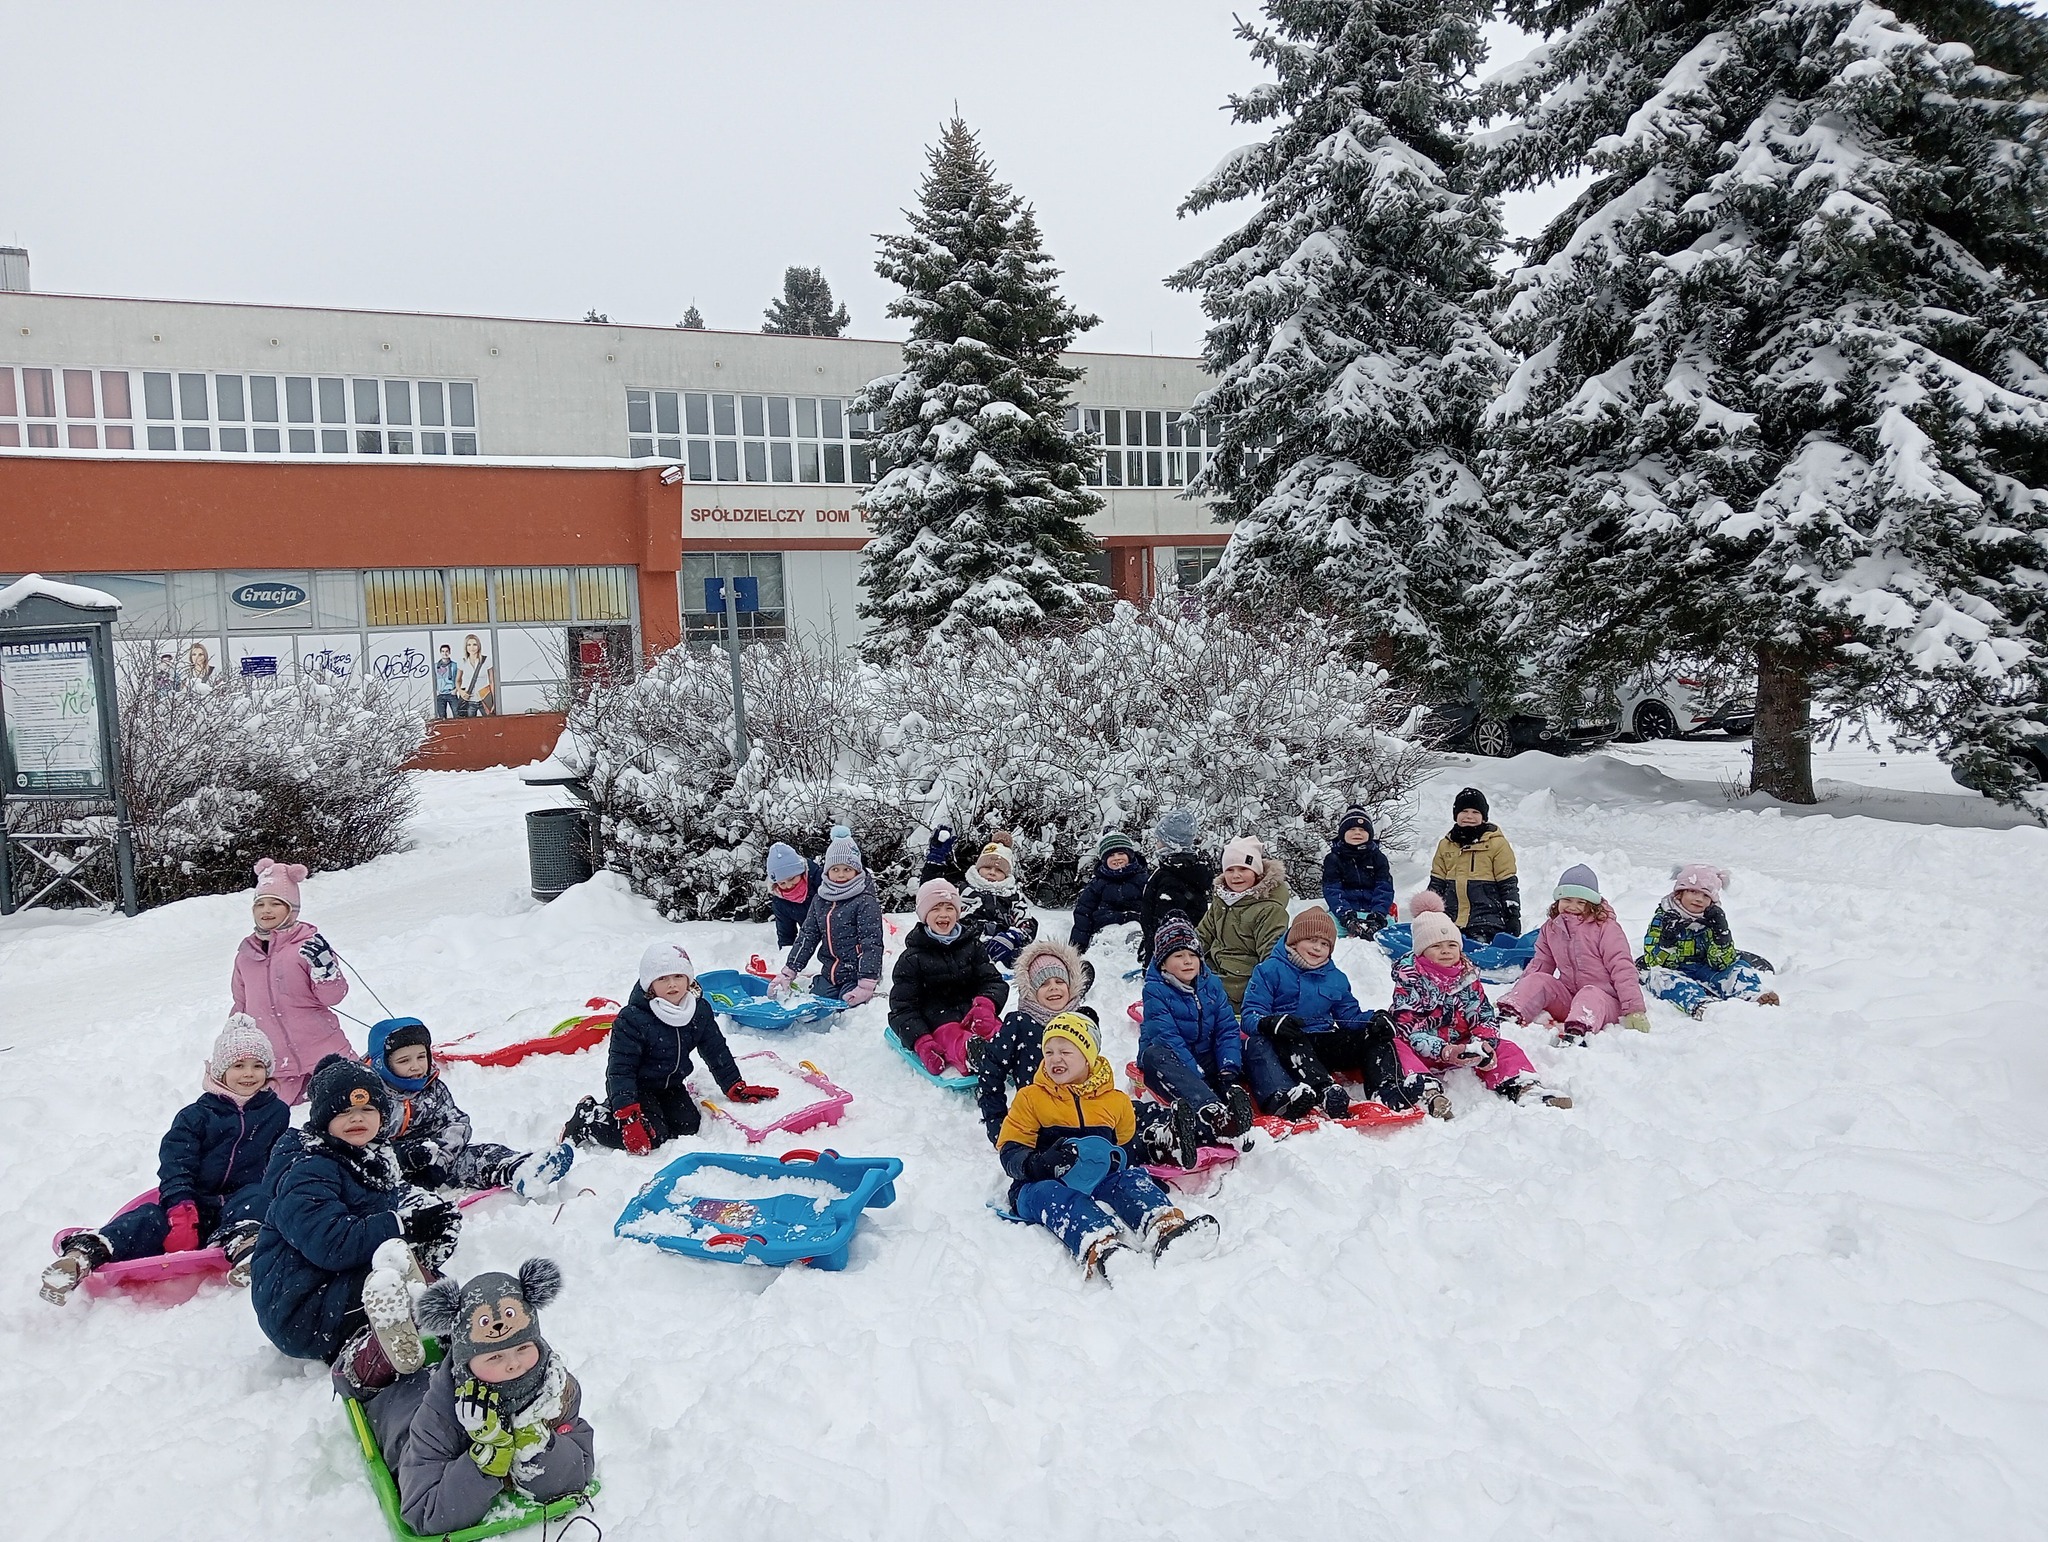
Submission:
{"label": "wide snow-covered bush directly behind the group of children", "polygon": [[1100,627],[934,635],[877,666],[743,655],[752,758],[733,758],[725,655],[674,649],[571,717],[606,864],[666,915],[752,915],[762,860],[850,825],[891,903],[924,831],[1010,827],[1032,893],[1071,899],[1106,827],[1192,807],[1210,848],[1257,833],[1311,864],[1348,803],[1382,827],[1427,766],[1413,700],[1317,623],[1255,633],[1165,596]]}

